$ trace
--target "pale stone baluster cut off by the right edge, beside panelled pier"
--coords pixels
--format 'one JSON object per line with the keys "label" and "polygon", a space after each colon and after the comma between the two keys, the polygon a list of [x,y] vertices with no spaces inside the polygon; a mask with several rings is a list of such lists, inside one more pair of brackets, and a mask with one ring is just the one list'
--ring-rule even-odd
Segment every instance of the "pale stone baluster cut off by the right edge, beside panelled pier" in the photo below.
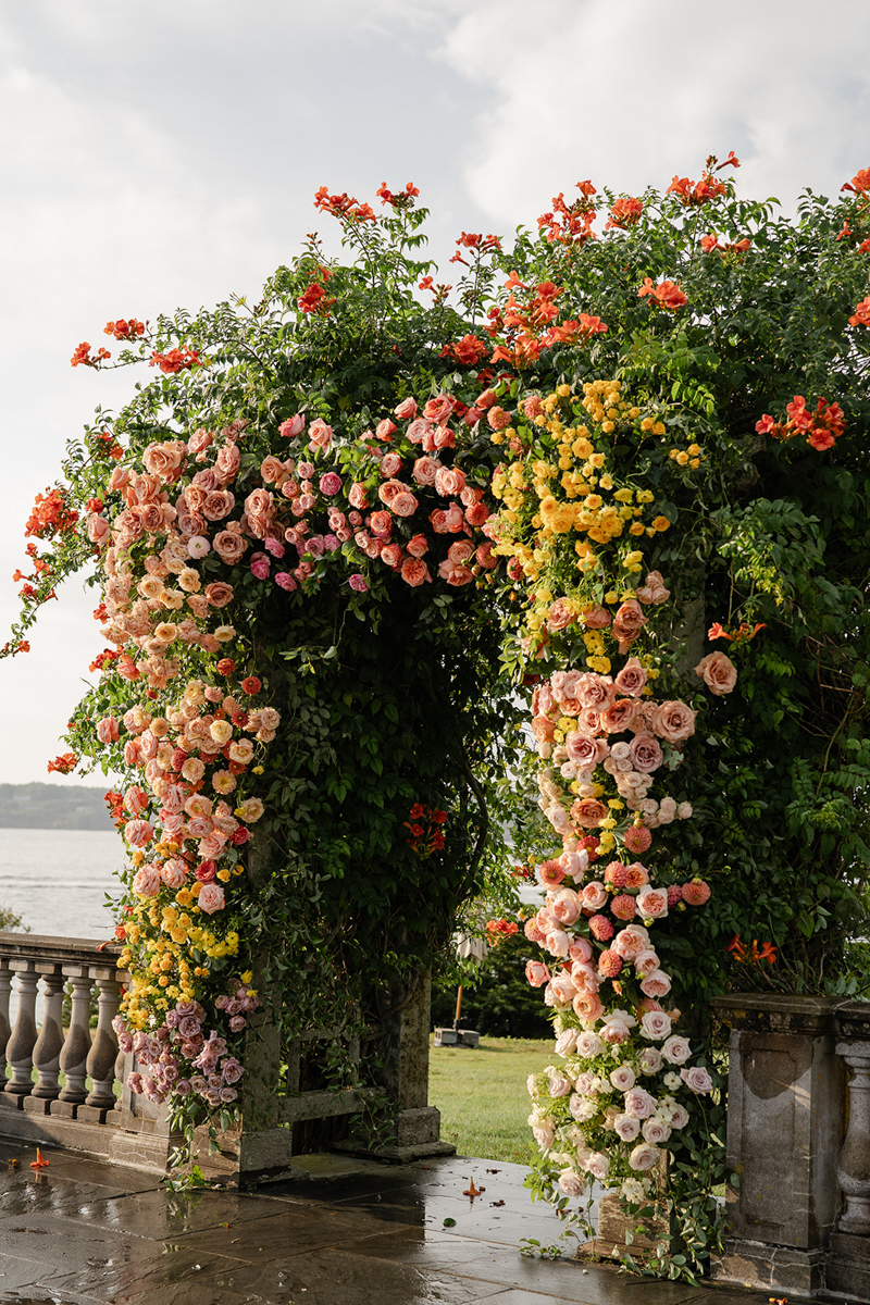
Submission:
{"label": "pale stone baluster cut off by the right edge, beside panelled pier", "polygon": [[870,1300],[870,1002],[837,1010],[837,1054],[850,1070],[849,1129],[837,1159],[844,1207],[831,1235],[827,1288]]}

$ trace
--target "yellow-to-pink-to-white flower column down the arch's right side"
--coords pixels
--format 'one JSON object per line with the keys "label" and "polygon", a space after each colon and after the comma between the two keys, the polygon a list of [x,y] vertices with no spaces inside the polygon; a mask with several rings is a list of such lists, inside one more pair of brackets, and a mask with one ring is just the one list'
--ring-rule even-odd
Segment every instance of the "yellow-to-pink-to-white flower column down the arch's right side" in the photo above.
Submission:
{"label": "yellow-to-pink-to-white flower column down the arch's right side", "polygon": [[[703,1122],[713,1087],[681,1011],[663,1006],[672,977],[656,950],[656,929],[669,921],[670,936],[711,895],[700,878],[656,872],[652,848],[655,830],[691,818],[682,783],[669,788],[698,715],[653,697],[660,676],[676,683],[676,654],[670,592],[648,559],[677,515],[670,496],[690,510],[704,461],[697,442],[677,432],[668,448],[667,435],[618,381],[527,395],[494,436],[502,506],[484,527],[527,599],[517,656],[544,672],[531,676],[530,736],[539,804],[561,840],[536,867],[545,900],[524,923],[543,950],[527,979],[544,992],[558,1057],[528,1081],[540,1190],[580,1198],[595,1178],[634,1211],[657,1197],[665,1154]],[[736,683],[721,652],[695,675],[717,696]],[[690,932],[691,914],[683,921]]]}

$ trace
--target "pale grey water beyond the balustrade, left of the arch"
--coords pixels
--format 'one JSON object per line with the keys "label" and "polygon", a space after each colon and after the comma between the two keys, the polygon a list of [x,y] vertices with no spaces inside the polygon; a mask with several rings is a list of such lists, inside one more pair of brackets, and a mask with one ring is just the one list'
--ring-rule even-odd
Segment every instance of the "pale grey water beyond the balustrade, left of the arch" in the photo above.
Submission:
{"label": "pale grey water beyond the balustrade, left of the arch", "polygon": [[102,942],[115,928],[104,900],[117,891],[123,861],[112,830],[0,829],[0,907],[33,933]]}

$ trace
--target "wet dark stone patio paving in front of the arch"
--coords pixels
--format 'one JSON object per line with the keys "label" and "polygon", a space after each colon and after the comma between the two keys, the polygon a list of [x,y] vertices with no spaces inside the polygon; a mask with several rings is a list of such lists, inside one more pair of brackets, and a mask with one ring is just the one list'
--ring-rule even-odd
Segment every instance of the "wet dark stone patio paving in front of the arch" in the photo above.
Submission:
{"label": "wet dark stone patio paving in front of the arch", "polygon": [[[768,1305],[770,1292],[531,1259],[558,1224],[526,1168],[309,1156],[304,1181],[167,1191],[153,1174],[0,1143],[0,1302],[74,1305]],[[463,1195],[468,1180],[485,1190]],[[445,1224],[445,1220],[455,1223]],[[794,1301],[794,1297],[792,1297]],[[830,1302],[828,1302],[830,1305]]]}

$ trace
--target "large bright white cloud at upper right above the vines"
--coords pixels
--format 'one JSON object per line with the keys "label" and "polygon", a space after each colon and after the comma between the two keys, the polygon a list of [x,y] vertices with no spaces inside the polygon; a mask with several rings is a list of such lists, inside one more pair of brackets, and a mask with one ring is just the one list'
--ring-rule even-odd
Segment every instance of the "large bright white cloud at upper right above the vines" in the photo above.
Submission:
{"label": "large bright white cloud at upper right above the vines", "polygon": [[[848,39],[845,38],[848,33]],[[793,202],[866,166],[863,0],[485,0],[445,63],[489,87],[463,161],[493,221],[533,222],[591,176],[637,193],[734,149],[740,188]]]}

